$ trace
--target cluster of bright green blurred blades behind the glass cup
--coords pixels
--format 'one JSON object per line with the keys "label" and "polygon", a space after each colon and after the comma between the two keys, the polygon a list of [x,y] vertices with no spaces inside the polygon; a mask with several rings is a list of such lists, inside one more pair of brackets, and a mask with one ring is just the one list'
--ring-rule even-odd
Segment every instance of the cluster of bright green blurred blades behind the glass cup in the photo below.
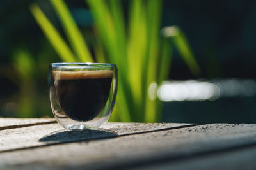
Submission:
{"label": "cluster of bright green blurred blades behind the glass cup", "polygon": [[161,1],[130,1],[127,22],[121,1],[86,1],[95,23],[94,59],[67,4],[62,0],[50,2],[70,46],[37,4],[31,4],[30,9],[63,61],[110,62],[118,66],[119,85],[115,111],[111,116],[113,121],[160,121],[161,103],[156,98],[156,90],[157,85],[168,78],[170,71],[168,38],[172,38],[173,45],[177,46],[191,71],[200,73],[188,41],[179,28],[173,27],[175,35],[167,32],[163,37],[159,36]]}

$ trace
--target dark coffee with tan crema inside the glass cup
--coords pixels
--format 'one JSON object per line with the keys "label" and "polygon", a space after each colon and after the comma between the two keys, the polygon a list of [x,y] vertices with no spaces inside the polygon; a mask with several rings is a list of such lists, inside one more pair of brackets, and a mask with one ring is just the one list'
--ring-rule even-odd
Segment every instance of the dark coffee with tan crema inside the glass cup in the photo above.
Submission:
{"label": "dark coffee with tan crema inside the glass cup", "polygon": [[52,71],[61,110],[73,120],[97,117],[108,100],[113,71]]}

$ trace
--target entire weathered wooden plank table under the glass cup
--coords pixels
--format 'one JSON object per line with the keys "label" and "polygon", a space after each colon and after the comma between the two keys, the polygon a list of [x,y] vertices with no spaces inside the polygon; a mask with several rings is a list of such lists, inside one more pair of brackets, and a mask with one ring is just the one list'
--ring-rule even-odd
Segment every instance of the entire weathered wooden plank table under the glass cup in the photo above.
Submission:
{"label": "entire weathered wooden plank table under the glass cup", "polygon": [[1,169],[256,169],[256,125],[109,122],[66,131],[54,119],[0,118]]}

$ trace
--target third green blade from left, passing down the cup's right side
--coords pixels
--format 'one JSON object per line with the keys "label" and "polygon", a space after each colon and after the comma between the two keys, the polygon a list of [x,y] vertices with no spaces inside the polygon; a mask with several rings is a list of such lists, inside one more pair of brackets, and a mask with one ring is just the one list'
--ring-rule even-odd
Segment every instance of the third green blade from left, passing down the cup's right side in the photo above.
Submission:
{"label": "third green blade from left, passing down the cup's right side", "polygon": [[[113,15],[109,10],[106,1],[87,0],[86,3],[90,6],[92,10],[95,27],[97,27],[97,31],[99,31],[99,37],[102,39],[104,48],[108,53],[108,62],[115,63],[118,66],[119,84],[117,98],[119,100],[122,99],[122,102],[119,101],[116,103],[116,105],[118,106],[118,118],[121,118],[122,121],[131,121],[131,119],[129,118],[129,113],[133,113],[133,106],[131,104],[131,87],[129,87],[129,81],[127,80],[126,74],[126,53],[122,50],[122,48],[120,48],[120,44],[125,44],[125,42],[120,42],[120,38],[118,38],[119,35],[118,32],[116,32],[115,26],[116,18],[113,18]],[[115,1],[113,1],[112,3],[115,3]],[[112,5],[116,6],[116,4]],[[120,113],[120,110],[124,110],[124,112]]]}

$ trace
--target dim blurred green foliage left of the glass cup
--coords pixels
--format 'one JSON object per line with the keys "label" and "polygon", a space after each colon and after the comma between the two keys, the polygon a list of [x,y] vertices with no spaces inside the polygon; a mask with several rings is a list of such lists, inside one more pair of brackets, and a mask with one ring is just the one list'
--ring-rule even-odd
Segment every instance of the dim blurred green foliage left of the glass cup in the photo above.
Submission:
{"label": "dim blurred green foliage left of the glass cup", "polygon": [[[49,50],[51,53],[51,50]],[[49,54],[48,53],[48,54]],[[45,72],[48,64],[45,65],[44,53],[38,56],[38,60],[35,60],[33,54],[26,48],[26,46],[19,46],[13,49],[12,53],[12,67],[13,71],[8,71],[6,76],[13,80],[19,87],[18,97],[12,99],[13,102],[6,103],[4,110],[8,115],[6,117],[42,117],[42,113],[48,112],[47,104],[48,99],[45,94],[47,90],[42,89],[42,72]],[[38,64],[42,63],[42,65]],[[43,78],[42,78],[43,77]],[[41,84],[41,85],[40,85]],[[17,105],[15,102],[19,103]],[[40,104],[38,104],[40,103]]]}

